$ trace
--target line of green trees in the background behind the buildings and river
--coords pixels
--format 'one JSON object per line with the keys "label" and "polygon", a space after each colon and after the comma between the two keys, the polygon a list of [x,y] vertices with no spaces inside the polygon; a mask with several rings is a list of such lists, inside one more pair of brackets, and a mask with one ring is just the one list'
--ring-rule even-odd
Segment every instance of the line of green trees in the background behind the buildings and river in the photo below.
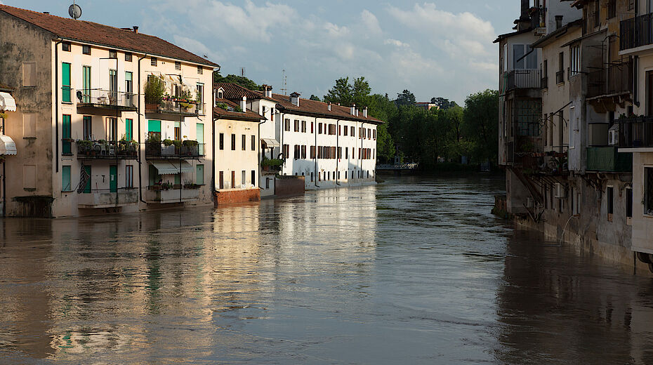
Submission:
{"label": "line of green trees in the background behind the buildings and river", "polygon": [[[217,74],[214,78],[260,89],[245,77]],[[470,164],[496,164],[498,98],[497,91],[488,89],[469,95],[464,107],[447,98],[432,98],[430,102],[437,107],[427,109],[418,106],[415,95],[408,90],[397,93],[394,99],[388,94],[372,93],[364,77],[352,81],[342,77],[324,98],[310,96],[311,100],[367,107],[371,117],[385,122],[376,132],[379,163],[393,163],[398,156],[404,162],[417,162],[424,170],[437,168],[442,161],[460,163],[463,157]]]}

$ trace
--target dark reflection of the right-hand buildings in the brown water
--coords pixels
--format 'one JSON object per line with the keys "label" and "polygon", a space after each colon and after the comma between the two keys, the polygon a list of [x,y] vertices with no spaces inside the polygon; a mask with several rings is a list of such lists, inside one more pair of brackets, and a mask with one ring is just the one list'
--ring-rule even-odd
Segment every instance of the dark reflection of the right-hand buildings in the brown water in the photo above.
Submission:
{"label": "dark reflection of the right-hand buildings in the brown water", "polygon": [[508,239],[497,359],[517,364],[552,354],[565,364],[651,364],[653,308],[641,300],[653,294],[648,282],[557,246],[533,232]]}

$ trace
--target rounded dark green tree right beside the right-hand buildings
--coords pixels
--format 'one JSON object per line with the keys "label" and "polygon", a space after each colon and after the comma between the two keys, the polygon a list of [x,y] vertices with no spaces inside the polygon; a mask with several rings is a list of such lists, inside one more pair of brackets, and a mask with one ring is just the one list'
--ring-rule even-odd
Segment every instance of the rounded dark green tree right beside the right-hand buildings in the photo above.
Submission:
{"label": "rounded dark green tree right beside the right-hand buildings", "polygon": [[470,142],[471,157],[477,162],[496,163],[499,154],[499,92],[485,90],[465,100],[464,138]]}

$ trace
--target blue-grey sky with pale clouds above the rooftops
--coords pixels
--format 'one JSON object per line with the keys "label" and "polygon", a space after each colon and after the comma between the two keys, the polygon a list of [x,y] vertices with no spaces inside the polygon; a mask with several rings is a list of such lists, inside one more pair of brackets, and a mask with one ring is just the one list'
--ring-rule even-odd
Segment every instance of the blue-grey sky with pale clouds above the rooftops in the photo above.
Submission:
{"label": "blue-grey sky with pale clouds above the rooftops", "polygon": [[[66,16],[72,0],[0,0]],[[510,32],[519,0],[114,0],[77,1],[82,20],[140,26],[209,59],[222,74],[322,97],[343,76],[375,93],[404,89],[418,101],[496,88],[497,34]]]}

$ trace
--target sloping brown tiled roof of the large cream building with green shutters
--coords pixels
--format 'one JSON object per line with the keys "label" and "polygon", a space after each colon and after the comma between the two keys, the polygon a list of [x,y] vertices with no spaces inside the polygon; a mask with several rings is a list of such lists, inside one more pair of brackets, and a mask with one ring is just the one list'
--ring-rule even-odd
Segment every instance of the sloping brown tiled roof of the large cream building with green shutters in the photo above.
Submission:
{"label": "sloping brown tiled roof of the large cream building with green shutters", "polygon": [[133,32],[132,30],[110,27],[95,22],[61,18],[55,15],[38,13],[13,6],[0,5],[0,11],[13,15],[15,18],[29,22],[57,37],[72,41],[84,41],[98,46],[121,48],[126,51],[147,53],[147,55],[174,58],[201,65],[218,67],[205,58],[190,53],[157,36]]}

